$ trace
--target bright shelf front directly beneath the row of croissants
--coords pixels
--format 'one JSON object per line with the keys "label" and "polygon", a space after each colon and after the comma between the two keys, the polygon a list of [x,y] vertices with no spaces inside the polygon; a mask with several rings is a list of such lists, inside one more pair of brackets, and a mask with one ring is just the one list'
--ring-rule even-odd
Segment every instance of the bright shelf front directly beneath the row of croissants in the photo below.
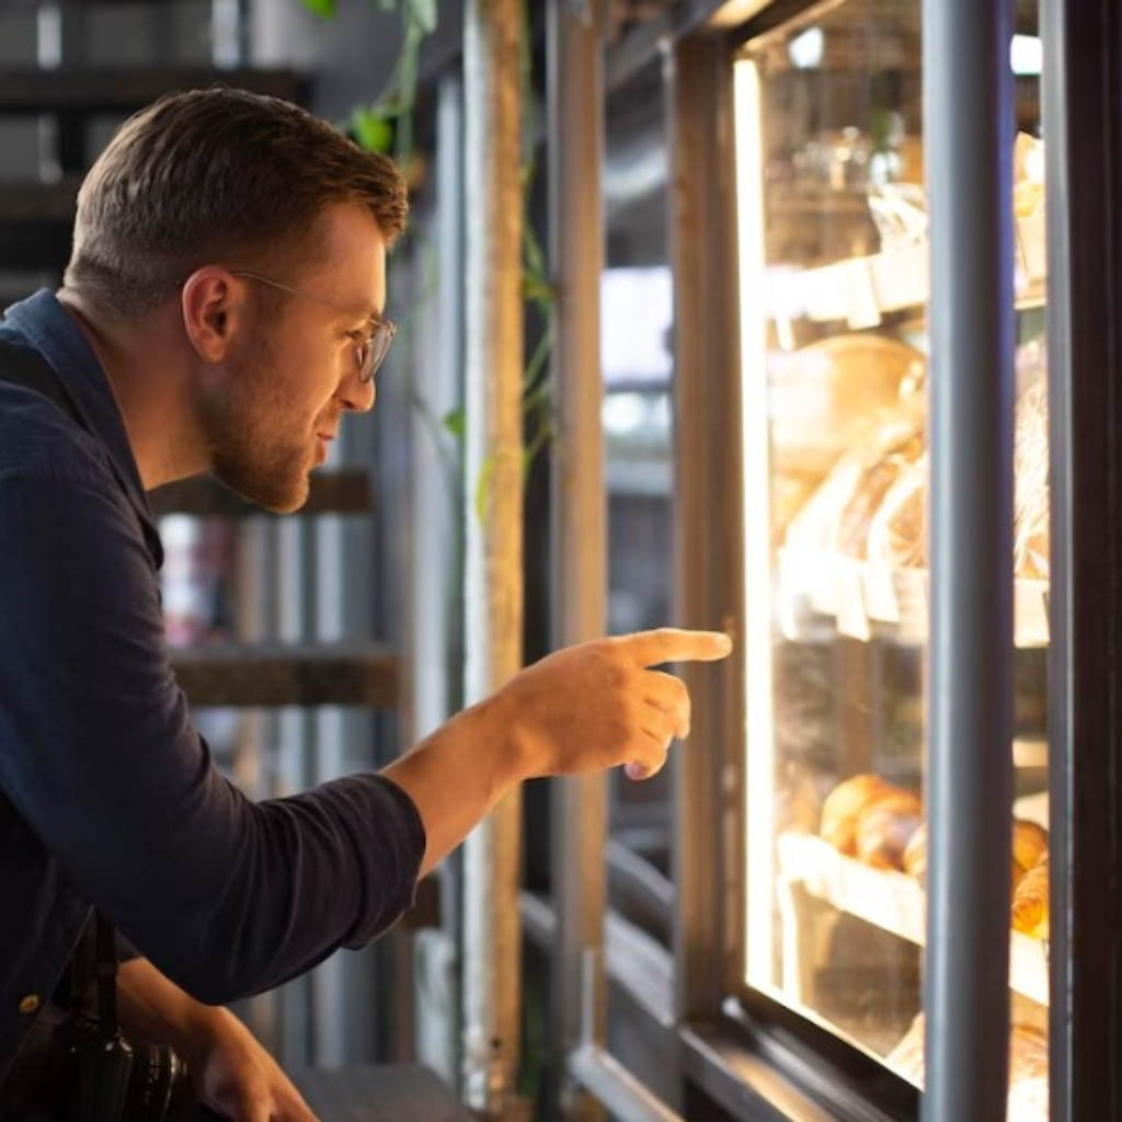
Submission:
{"label": "bright shelf front directly beneath the row of croissants", "polygon": [[[884,931],[923,946],[927,896],[905,873],[873,868],[839,854],[810,834],[783,834],[776,840],[780,876],[801,884],[810,895]],[[1010,931],[1010,988],[1041,1005],[1048,1004],[1048,959],[1045,944]]]}

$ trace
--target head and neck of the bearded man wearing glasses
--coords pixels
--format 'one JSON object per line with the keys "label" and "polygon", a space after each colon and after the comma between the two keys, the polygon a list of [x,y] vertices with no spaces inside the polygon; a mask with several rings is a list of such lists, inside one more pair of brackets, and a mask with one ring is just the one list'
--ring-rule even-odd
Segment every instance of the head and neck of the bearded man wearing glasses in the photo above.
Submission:
{"label": "head and neck of the bearded man wearing glasses", "polygon": [[146,486],[211,471],[301,506],[344,412],[374,404],[394,164],[273,98],[174,94],[79,195],[63,292],[94,338]]}

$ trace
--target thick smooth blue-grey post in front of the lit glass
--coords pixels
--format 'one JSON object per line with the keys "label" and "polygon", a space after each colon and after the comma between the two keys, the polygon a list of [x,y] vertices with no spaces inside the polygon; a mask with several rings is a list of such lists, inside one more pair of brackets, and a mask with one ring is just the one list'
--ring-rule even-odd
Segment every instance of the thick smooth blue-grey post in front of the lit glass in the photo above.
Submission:
{"label": "thick smooth blue-grey post in front of the lit glass", "polygon": [[1005,1116],[1012,802],[1011,3],[928,0],[926,1122]]}

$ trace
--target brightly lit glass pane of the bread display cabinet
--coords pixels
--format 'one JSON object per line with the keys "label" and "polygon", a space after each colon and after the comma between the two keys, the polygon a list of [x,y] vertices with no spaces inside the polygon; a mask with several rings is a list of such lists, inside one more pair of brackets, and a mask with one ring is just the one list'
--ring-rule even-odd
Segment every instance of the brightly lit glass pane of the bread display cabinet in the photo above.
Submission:
{"label": "brightly lit glass pane of the bread display cabinet", "polygon": [[[921,4],[849,0],[816,12],[748,44],[735,79],[745,983],[921,1086],[929,350]],[[1024,893],[1043,875],[1034,866],[1048,824],[1034,2],[1019,4],[1012,65],[1020,74],[1014,879]],[[1019,1120],[1047,1116],[1047,925],[1030,923],[1030,911],[1026,904],[1011,923],[1019,929],[1010,1116]]]}

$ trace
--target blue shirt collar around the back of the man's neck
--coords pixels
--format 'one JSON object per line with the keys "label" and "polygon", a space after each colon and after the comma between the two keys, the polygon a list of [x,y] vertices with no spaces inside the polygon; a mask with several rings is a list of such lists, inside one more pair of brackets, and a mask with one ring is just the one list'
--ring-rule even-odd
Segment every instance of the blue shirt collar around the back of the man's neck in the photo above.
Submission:
{"label": "blue shirt collar around the back of the man's neck", "polygon": [[53,292],[40,289],[3,313],[0,330],[30,343],[50,365],[74,403],[83,426],[109,453],[118,481],[144,526],[157,567],[163,560],[159,533],[140,479],[132,447],[112,386],[74,318]]}

